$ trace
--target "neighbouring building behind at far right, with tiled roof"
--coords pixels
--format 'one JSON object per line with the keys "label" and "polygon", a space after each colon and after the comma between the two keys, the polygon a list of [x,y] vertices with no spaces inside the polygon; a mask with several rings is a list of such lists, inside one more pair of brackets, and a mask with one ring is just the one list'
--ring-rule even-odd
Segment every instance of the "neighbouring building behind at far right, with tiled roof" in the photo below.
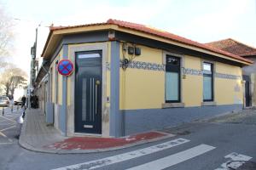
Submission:
{"label": "neighbouring building behind at far right, with tiled roof", "polygon": [[239,55],[254,62],[253,65],[242,67],[242,77],[245,81],[245,106],[256,106],[256,48],[231,38],[209,42],[207,45]]}

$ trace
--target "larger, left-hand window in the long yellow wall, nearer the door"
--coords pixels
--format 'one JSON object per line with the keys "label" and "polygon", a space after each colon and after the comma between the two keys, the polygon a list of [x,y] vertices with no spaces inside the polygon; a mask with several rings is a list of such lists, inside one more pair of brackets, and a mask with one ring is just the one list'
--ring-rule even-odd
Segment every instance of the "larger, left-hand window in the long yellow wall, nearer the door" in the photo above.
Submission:
{"label": "larger, left-hand window in the long yellow wall, nearer the door", "polygon": [[180,102],[180,58],[166,55],[166,103]]}

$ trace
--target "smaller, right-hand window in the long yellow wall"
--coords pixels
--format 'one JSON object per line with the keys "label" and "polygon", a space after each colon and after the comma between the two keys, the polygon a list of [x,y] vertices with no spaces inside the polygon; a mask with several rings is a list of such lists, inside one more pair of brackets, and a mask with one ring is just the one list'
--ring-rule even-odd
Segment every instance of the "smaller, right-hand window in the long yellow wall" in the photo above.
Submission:
{"label": "smaller, right-hand window in the long yellow wall", "polygon": [[203,63],[203,100],[213,101],[212,63]]}

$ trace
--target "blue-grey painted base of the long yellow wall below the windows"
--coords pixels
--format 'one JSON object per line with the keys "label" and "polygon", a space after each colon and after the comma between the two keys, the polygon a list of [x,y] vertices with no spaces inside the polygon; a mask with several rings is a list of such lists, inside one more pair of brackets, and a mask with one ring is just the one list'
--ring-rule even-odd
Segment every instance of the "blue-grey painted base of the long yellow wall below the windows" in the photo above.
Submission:
{"label": "blue-grey painted base of the long yellow wall below the windows", "polygon": [[140,133],[163,127],[174,127],[184,122],[217,116],[228,111],[241,111],[242,105],[216,105],[170,109],[121,111],[124,116],[124,134]]}

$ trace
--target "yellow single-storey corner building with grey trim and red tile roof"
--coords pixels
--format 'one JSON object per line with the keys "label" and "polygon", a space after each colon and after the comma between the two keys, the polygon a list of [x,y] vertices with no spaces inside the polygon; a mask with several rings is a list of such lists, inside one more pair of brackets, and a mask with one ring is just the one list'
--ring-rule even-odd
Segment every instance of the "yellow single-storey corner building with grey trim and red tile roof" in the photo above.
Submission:
{"label": "yellow single-storey corner building with grey trim and red tile roof", "polygon": [[[42,56],[40,107],[67,136],[119,137],[241,110],[241,66],[252,63],[119,20],[51,27]],[[70,76],[56,69],[62,59]]]}

